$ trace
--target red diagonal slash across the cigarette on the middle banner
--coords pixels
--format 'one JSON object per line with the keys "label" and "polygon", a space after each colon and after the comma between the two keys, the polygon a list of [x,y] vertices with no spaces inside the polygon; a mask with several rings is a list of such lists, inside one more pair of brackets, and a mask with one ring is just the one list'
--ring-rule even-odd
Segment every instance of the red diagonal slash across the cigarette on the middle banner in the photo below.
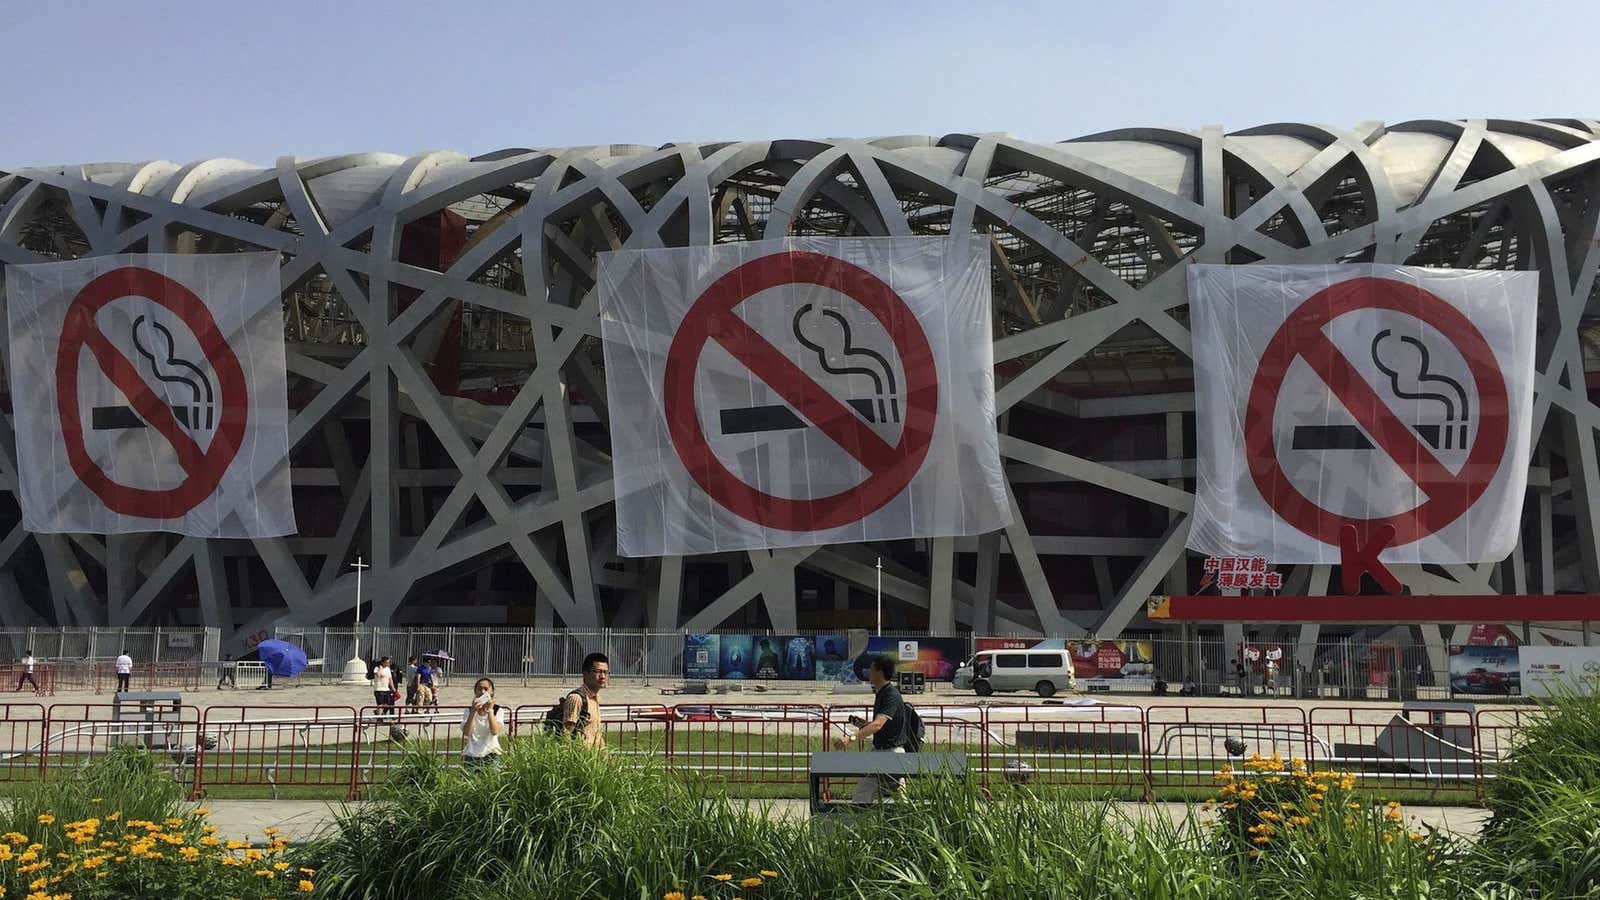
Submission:
{"label": "red diagonal slash across the cigarette on the middle banner", "polygon": [[728,311],[715,315],[710,320],[710,336],[869,471],[882,472],[894,464],[894,447],[738,314]]}

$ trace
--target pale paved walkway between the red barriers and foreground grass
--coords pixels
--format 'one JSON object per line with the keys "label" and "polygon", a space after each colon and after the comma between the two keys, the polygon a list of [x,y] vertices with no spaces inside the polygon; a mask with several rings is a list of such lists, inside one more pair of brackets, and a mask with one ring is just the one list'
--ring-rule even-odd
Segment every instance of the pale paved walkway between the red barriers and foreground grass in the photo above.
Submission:
{"label": "pale paved walkway between the red barriers and foreground grass", "polygon": [[[750,801],[752,804],[768,804],[774,817],[805,818],[806,801]],[[306,841],[333,823],[339,804],[323,801],[211,801],[211,823],[226,838],[261,839],[261,830],[275,826],[290,841]],[[1173,822],[1182,822],[1189,815],[1187,804],[1160,802],[1118,804],[1130,817],[1141,818],[1150,815],[1166,815]],[[1418,825],[1453,831],[1462,836],[1477,834],[1488,818],[1488,810],[1478,807],[1448,806],[1413,806],[1406,807],[1406,818]]]}

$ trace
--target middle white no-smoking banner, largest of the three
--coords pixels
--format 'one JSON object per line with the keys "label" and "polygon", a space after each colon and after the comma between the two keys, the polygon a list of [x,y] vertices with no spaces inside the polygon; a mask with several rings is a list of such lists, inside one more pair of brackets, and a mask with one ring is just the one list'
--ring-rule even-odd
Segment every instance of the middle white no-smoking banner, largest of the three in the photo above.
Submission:
{"label": "middle white no-smoking banner, largest of the three", "polygon": [[622,250],[598,282],[622,556],[1010,524],[984,243]]}

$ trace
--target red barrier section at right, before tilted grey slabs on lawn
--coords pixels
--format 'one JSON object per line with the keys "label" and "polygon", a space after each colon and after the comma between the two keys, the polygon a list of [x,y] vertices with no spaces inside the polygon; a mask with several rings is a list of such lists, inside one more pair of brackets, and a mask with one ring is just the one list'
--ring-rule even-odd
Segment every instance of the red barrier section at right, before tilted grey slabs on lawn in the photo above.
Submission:
{"label": "red barrier section at right, before tilted grey slabs on lawn", "polygon": [[1310,733],[1315,769],[1350,772],[1368,788],[1477,793],[1477,727],[1464,709],[1317,706]]}

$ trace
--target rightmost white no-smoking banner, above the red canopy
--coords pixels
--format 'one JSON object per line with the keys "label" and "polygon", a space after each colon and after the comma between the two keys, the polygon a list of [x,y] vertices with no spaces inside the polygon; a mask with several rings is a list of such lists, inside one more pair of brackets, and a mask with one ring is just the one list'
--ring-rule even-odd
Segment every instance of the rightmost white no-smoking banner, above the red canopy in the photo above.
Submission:
{"label": "rightmost white no-smoking banner, above the red canopy", "polygon": [[1528,484],[1539,275],[1190,266],[1198,492],[1189,548],[1336,564],[1504,559]]}

